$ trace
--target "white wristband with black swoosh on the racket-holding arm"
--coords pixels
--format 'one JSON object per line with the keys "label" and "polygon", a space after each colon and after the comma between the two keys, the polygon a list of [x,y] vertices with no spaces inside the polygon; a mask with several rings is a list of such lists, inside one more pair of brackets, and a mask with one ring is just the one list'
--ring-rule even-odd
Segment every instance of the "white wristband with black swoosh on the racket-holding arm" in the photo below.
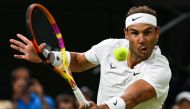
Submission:
{"label": "white wristband with black swoosh on the racket-holding arm", "polygon": [[113,97],[106,101],[105,104],[108,105],[109,109],[125,109],[125,101],[121,97]]}

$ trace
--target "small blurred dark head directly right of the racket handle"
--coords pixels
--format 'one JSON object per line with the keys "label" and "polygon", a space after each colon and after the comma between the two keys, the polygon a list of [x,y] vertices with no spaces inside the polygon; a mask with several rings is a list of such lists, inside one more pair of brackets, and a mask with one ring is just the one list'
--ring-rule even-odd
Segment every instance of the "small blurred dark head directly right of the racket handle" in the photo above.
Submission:
{"label": "small blurred dark head directly right of the racket handle", "polygon": [[84,94],[86,100],[93,101],[93,92],[90,88],[88,88],[87,86],[82,86],[80,89],[81,92]]}

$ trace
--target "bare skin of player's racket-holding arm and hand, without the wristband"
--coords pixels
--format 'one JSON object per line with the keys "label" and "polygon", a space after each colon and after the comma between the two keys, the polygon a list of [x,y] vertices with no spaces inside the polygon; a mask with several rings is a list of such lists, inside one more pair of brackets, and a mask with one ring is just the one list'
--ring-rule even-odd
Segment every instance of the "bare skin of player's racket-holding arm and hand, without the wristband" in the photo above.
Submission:
{"label": "bare skin of player's racket-holding arm and hand, without the wristband", "polygon": [[[132,109],[136,105],[156,96],[154,88],[144,80],[138,80],[130,85],[121,96],[126,104],[126,109]],[[107,104],[99,105],[97,109],[109,109]]]}

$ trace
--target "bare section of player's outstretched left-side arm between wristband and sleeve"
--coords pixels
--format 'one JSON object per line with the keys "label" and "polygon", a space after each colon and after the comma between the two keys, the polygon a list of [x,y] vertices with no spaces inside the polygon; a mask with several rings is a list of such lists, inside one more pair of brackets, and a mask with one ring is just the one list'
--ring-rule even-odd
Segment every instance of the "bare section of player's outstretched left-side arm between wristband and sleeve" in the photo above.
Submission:
{"label": "bare section of player's outstretched left-side arm between wristband and sleeve", "polygon": [[70,54],[70,68],[72,72],[82,72],[96,66],[86,59],[84,53],[70,52]]}

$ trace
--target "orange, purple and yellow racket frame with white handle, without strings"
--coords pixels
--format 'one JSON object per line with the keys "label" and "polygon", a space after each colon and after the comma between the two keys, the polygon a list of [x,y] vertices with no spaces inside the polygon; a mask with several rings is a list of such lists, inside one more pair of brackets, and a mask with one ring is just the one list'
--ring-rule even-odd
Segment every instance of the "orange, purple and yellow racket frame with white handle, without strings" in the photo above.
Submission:
{"label": "orange, purple and yellow racket frame with white handle, without strings", "polygon": [[[55,19],[53,18],[51,13],[43,5],[38,4],[38,3],[34,3],[34,4],[31,4],[27,9],[26,22],[27,22],[27,28],[28,28],[30,34],[32,35],[32,43],[33,43],[38,55],[40,56],[40,58],[43,60],[44,63],[47,63],[47,59],[43,56],[42,50],[37,43],[36,36],[35,36],[34,31],[32,29],[33,28],[32,27],[32,15],[33,15],[32,12],[36,8],[40,9],[45,14],[45,16],[48,18],[48,21],[52,25],[52,28],[56,34],[56,37],[57,37],[57,40],[59,43],[59,47],[60,47],[60,51],[62,54],[62,64],[59,67],[54,67],[54,66],[51,66],[51,67],[53,67],[54,71],[56,71],[58,74],[60,74],[63,78],[65,78],[67,80],[67,82],[70,84],[78,102],[79,103],[83,102],[83,103],[85,103],[86,107],[89,107],[89,103],[85,99],[81,90],[78,88],[78,86],[77,86],[77,84],[76,84],[76,82],[72,76],[70,67],[68,65],[64,40],[62,38],[62,34],[59,30],[59,27],[58,27]],[[65,69],[65,71],[63,71],[62,69]]]}

